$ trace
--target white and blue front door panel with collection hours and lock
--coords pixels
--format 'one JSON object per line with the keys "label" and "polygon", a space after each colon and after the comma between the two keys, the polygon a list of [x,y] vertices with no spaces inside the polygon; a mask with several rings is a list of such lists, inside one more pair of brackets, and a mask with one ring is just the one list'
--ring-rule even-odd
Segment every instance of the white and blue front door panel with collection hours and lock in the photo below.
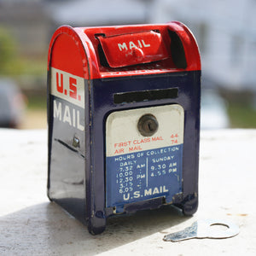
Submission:
{"label": "white and blue front door panel with collection hours and lock", "polygon": [[110,113],[106,121],[106,207],[182,193],[184,111],[178,104]]}

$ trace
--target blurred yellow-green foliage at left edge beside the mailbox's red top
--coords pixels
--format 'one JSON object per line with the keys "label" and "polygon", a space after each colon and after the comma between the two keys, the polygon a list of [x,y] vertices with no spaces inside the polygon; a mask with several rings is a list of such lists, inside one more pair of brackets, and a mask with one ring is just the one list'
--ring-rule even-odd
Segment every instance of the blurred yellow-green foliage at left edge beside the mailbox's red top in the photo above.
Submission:
{"label": "blurred yellow-green foliage at left edge beside the mailbox's red top", "polygon": [[41,76],[46,73],[46,60],[20,56],[17,53],[15,38],[9,32],[0,27],[0,75]]}

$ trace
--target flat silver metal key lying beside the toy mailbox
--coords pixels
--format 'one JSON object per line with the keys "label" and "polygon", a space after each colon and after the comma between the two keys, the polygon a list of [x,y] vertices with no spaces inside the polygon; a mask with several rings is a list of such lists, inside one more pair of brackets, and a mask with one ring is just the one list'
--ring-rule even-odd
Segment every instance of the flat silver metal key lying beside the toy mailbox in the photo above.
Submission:
{"label": "flat silver metal key lying beside the toy mailbox", "polygon": [[[215,227],[214,227],[215,226]],[[224,226],[225,230],[216,229]],[[239,233],[239,227],[230,221],[206,219],[198,220],[188,228],[166,235],[164,241],[183,241],[192,238],[229,238]]]}

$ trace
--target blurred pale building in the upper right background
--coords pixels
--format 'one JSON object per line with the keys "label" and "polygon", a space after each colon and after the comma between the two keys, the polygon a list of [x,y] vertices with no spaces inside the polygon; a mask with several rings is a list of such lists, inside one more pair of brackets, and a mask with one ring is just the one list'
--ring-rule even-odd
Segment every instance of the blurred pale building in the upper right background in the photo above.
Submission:
{"label": "blurred pale building in the upper right background", "polygon": [[150,22],[180,20],[201,49],[203,73],[232,90],[256,91],[255,0],[157,0]]}

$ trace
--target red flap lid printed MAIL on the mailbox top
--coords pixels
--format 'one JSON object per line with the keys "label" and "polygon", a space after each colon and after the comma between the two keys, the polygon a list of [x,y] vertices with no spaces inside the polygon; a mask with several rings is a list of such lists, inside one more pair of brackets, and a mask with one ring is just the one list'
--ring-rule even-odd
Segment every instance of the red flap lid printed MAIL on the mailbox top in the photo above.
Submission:
{"label": "red flap lid printed MAIL on the mailbox top", "polygon": [[110,67],[126,67],[169,57],[160,32],[136,32],[97,37]]}

